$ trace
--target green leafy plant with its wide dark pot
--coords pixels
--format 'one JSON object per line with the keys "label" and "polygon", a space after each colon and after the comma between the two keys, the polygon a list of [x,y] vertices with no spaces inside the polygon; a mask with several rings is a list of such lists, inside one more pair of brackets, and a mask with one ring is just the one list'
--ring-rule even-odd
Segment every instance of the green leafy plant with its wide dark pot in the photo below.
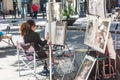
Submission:
{"label": "green leafy plant with its wide dark pot", "polygon": [[64,9],[62,11],[62,16],[64,17],[64,19],[62,19],[62,21],[66,21],[67,25],[71,26],[76,21],[76,18],[70,17],[73,14],[74,14],[73,6],[71,6],[70,4],[68,5],[68,7],[64,5]]}

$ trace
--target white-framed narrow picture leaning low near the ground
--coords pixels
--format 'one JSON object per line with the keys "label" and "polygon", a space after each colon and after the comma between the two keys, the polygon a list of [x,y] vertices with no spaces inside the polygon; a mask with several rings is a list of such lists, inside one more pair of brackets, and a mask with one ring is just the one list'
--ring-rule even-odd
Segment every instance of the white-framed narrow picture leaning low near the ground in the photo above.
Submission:
{"label": "white-framed narrow picture leaning low near the ground", "polygon": [[88,80],[95,62],[96,62],[96,59],[94,57],[86,55],[78,70],[75,80]]}

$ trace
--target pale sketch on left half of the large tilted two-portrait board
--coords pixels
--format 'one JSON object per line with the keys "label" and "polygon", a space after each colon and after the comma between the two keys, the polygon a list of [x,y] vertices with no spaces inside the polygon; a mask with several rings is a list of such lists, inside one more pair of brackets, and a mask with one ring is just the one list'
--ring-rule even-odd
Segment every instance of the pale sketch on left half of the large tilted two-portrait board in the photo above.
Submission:
{"label": "pale sketch on left half of the large tilted two-portrait board", "polygon": [[85,38],[84,38],[84,44],[93,47],[94,44],[94,38],[95,38],[95,31],[96,31],[96,17],[89,17],[88,23],[86,26],[86,32],[85,32]]}

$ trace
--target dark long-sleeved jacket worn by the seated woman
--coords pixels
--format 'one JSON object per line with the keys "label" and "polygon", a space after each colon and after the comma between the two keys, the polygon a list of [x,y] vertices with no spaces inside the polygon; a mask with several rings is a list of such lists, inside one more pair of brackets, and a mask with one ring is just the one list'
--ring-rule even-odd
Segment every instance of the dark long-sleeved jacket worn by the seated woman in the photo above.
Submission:
{"label": "dark long-sleeved jacket worn by the seated woman", "polygon": [[47,41],[42,41],[37,32],[29,31],[28,34],[24,36],[25,43],[34,43],[35,50],[40,50],[41,47],[47,44]]}

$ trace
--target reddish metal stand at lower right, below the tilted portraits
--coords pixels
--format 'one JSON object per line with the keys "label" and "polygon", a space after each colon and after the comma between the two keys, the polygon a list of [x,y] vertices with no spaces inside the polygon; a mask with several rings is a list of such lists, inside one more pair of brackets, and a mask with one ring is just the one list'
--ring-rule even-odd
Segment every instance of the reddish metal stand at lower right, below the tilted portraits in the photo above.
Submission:
{"label": "reddish metal stand at lower right, below the tilted portraits", "polygon": [[[114,64],[112,64],[112,59],[110,59],[108,55],[100,58],[99,52],[96,52],[96,58],[97,58],[97,61],[96,61],[95,80],[101,79],[101,78],[102,79],[114,78],[116,73],[115,73],[115,66],[113,66]],[[99,61],[102,61],[101,63],[102,68],[99,67],[100,66]]]}

